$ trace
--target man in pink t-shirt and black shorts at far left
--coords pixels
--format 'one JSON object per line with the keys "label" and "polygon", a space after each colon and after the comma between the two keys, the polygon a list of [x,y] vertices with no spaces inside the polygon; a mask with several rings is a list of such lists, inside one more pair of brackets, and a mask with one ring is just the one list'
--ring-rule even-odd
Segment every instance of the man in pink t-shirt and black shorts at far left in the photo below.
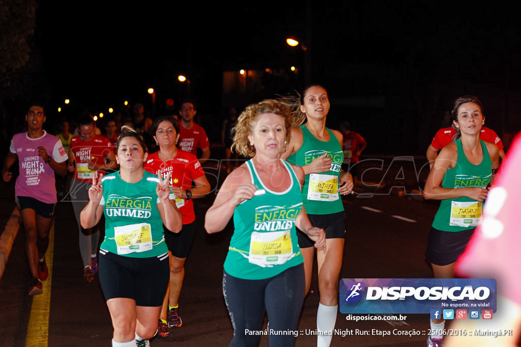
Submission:
{"label": "man in pink t-shirt and black shorts at far left", "polygon": [[26,254],[32,280],[29,295],[41,294],[42,280],[47,279],[45,252],[49,245],[49,230],[57,202],[54,173],[67,173],[67,153],[61,141],[43,130],[43,107],[31,104],[26,114],[27,132],[18,133],[2,168],[2,178],[9,182],[9,171],[18,159],[20,174],[16,179],[15,196],[23,228],[26,230]]}

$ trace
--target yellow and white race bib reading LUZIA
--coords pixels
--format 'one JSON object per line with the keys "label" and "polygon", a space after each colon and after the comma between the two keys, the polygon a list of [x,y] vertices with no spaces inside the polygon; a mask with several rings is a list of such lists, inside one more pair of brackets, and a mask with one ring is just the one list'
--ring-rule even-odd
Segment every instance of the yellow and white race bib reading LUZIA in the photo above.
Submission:
{"label": "yellow and white race bib reading LUZIA", "polygon": [[250,238],[249,262],[260,266],[280,265],[293,256],[290,230],[253,232]]}

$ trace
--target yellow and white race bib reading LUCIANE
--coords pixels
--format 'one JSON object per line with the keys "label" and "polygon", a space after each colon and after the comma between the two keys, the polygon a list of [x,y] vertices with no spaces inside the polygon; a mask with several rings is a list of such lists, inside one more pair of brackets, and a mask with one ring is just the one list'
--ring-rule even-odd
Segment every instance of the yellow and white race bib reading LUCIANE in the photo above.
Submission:
{"label": "yellow and white race bib reading LUCIANE", "polygon": [[152,232],[148,223],[115,226],[114,234],[118,254],[144,252],[152,249]]}

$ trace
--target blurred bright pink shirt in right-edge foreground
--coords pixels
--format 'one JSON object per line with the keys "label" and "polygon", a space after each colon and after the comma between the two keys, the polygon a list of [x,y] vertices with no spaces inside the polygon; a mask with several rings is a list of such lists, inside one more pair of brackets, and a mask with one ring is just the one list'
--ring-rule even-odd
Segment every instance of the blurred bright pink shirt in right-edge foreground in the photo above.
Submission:
{"label": "blurred bright pink shirt in right-edge foreground", "polygon": [[470,278],[495,278],[498,293],[521,305],[521,287],[517,277],[521,268],[519,172],[521,135],[508,150],[501,173],[488,193],[481,225],[456,262],[456,274]]}

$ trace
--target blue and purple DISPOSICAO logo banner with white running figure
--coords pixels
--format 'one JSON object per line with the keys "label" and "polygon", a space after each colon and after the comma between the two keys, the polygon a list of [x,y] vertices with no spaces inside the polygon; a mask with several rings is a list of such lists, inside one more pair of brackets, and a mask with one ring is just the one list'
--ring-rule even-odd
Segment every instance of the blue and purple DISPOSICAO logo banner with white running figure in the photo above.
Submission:
{"label": "blue and purple DISPOSICAO logo banner with white running figure", "polygon": [[445,310],[495,312],[496,287],[493,278],[343,278],[339,309],[348,314],[432,314],[437,310],[440,316]]}

